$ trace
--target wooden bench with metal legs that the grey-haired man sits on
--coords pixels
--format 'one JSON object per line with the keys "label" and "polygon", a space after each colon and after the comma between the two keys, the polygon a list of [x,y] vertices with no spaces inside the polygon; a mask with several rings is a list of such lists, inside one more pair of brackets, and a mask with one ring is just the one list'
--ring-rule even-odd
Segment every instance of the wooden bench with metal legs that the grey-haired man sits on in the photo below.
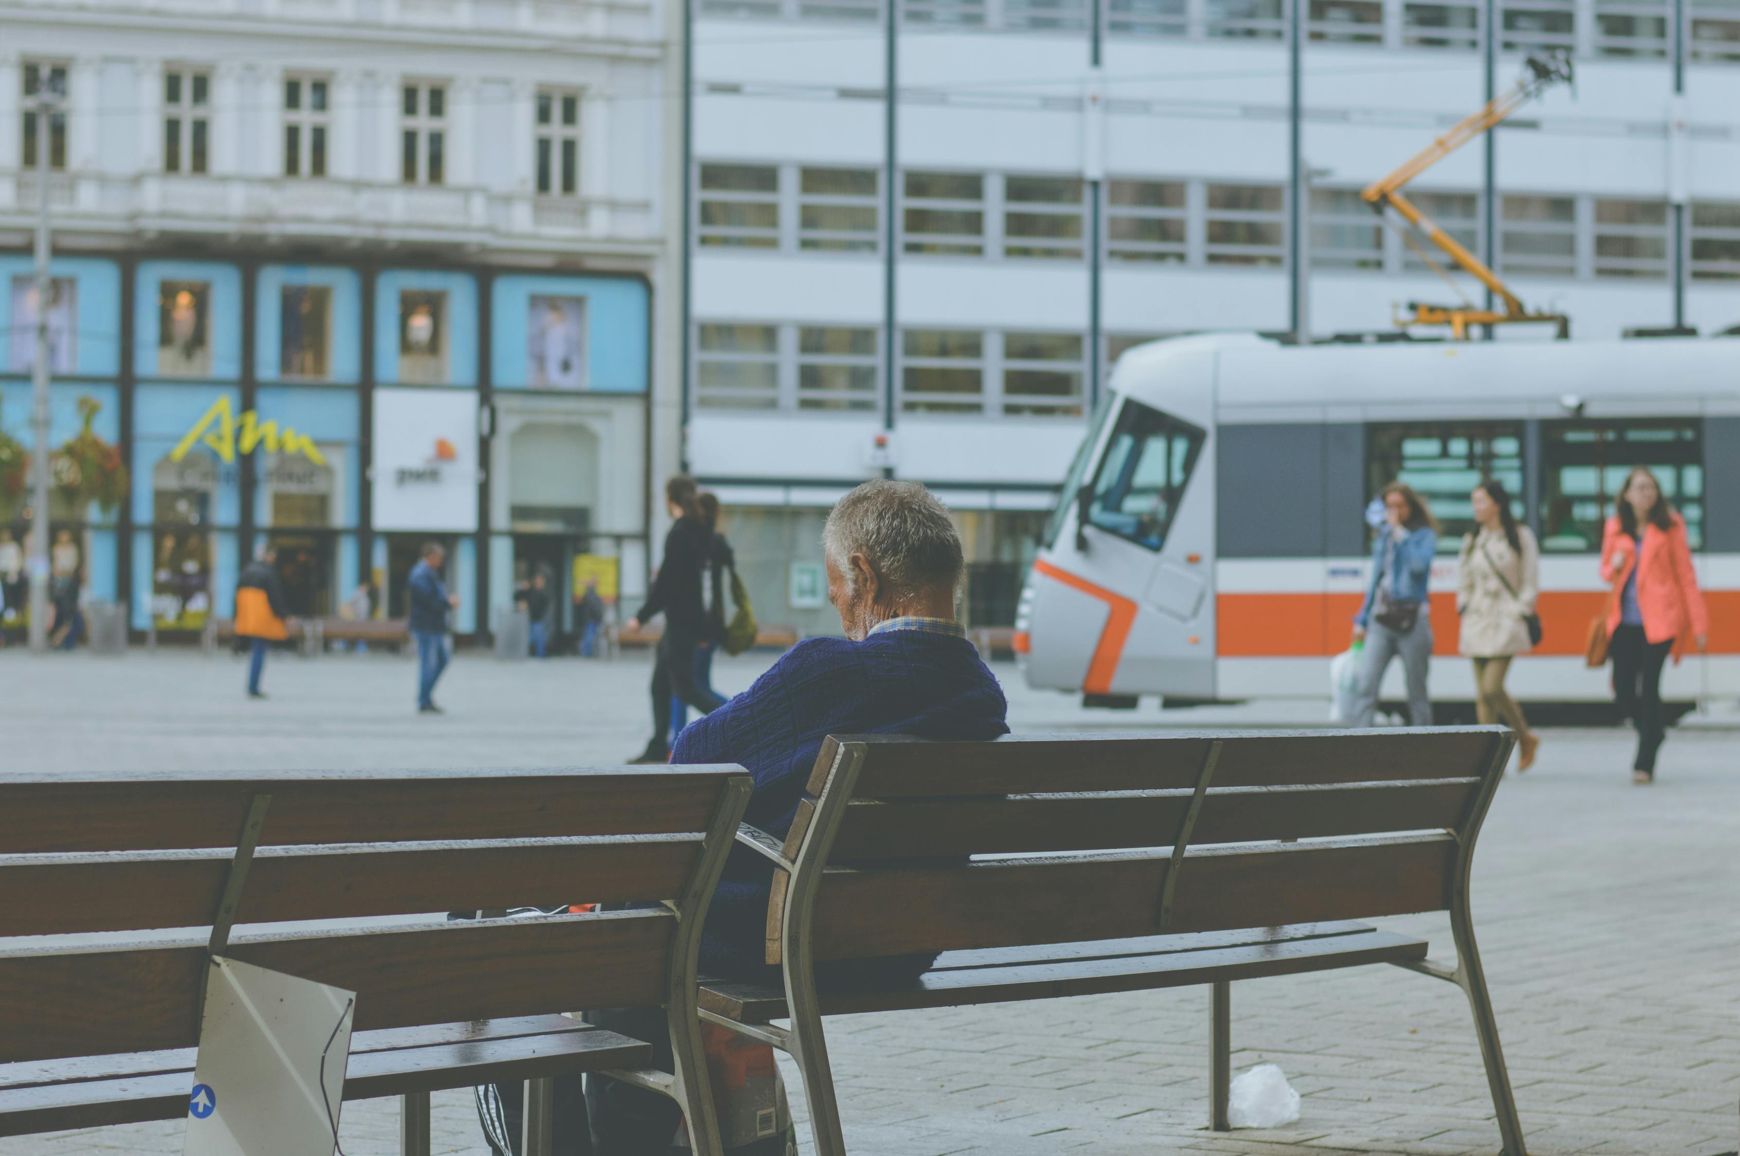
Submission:
{"label": "wooden bench with metal legs that the grey-haired man sits on", "polygon": [[[1503,1151],[1522,1156],[1469,914],[1512,744],[1498,727],[832,737],[790,834],[740,831],[776,866],[767,961],[785,987],[703,982],[701,1017],[790,1052],[816,1151],[840,1156],[825,1015],[1211,984],[1225,1130],[1232,980],[1395,963],[1469,996]],[[1455,967],[1352,923],[1422,911],[1449,913]],[[915,980],[816,979],[818,961],[907,953],[945,954]]]}

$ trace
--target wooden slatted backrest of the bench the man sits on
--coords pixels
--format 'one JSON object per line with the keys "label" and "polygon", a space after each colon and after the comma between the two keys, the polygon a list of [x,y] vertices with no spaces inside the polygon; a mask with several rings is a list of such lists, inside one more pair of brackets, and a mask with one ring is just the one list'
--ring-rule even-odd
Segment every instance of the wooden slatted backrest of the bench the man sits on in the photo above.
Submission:
{"label": "wooden slatted backrest of the bench the man sits on", "polygon": [[1498,727],[832,737],[783,845],[795,869],[774,876],[767,958],[788,909],[816,960],[1448,909],[1512,742]]}

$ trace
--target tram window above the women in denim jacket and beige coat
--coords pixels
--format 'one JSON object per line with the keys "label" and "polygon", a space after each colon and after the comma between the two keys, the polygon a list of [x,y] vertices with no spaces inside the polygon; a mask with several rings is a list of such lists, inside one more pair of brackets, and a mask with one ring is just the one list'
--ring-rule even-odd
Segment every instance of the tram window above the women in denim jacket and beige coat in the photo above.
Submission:
{"label": "tram window above the women in denim jacket and beige coat", "polygon": [[1510,490],[1522,520],[1522,422],[1392,422],[1366,428],[1366,492],[1404,482],[1430,506],[1442,532],[1437,549],[1453,555],[1474,528],[1470,494],[1482,478]]}

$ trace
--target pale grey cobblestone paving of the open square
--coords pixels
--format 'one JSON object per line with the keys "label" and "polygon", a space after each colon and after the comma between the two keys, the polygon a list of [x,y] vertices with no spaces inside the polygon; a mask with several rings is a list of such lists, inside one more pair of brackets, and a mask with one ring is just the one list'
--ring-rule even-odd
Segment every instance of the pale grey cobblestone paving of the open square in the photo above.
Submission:
{"label": "pale grey cobblestone paving of the open square", "polygon": [[[741,690],[762,664],[724,661],[717,681]],[[1107,721],[1027,692],[1013,668],[997,673],[1018,728]],[[463,655],[438,694],[449,714],[419,718],[412,666],[386,655],[273,661],[273,699],[252,704],[226,657],[38,664],[3,652],[0,774],[619,761],[646,741],[646,674],[635,659]],[[1145,709],[1115,721],[1194,718]],[[1476,928],[1535,1156],[1740,1146],[1740,767],[1733,730],[1716,721],[1674,732],[1650,789],[1629,782],[1623,734],[1549,732],[1540,765],[1498,794],[1476,864]],[[1442,916],[1387,923],[1449,954]],[[830,1020],[830,1041],[858,1156],[1498,1151],[1462,994],[1399,968],[1234,986],[1235,1071],[1281,1064],[1303,1095],[1300,1121],[1275,1132],[1204,1128],[1206,989],[860,1015]],[[345,1153],[397,1153],[397,1126],[393,1102],[351,1104]],[[440,1153],[487,1151],[465,1093],[435,1097],[435,1135]],[[181,1125],[0,1140],[0,1156],[111,1151],[179,1153]]]}

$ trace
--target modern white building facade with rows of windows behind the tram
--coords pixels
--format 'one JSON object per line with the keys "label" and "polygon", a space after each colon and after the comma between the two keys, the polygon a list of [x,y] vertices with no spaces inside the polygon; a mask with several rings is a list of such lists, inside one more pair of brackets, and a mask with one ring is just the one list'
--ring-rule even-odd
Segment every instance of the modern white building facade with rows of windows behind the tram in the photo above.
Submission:
{"label": "modern white building facade with rows of windows behind the tram", "polygon": [[696,0],[686,452],[766,621],[826,628],[820,518],[886,469],[957,511],[967,617],[1007,624],[1122,349],[1458,302],[1359,189],[1486,101],[1488,26],[1496,90],[1543,47],[1575,89],[1498,130],[1489,205],[1479,143],[1415,202],[1573,339],[1740,323],[1731,7],[1676,38],[1660,2],[1312,0],[1295,304],[1288,0],[893,2],[891,45],[877,0]]}

